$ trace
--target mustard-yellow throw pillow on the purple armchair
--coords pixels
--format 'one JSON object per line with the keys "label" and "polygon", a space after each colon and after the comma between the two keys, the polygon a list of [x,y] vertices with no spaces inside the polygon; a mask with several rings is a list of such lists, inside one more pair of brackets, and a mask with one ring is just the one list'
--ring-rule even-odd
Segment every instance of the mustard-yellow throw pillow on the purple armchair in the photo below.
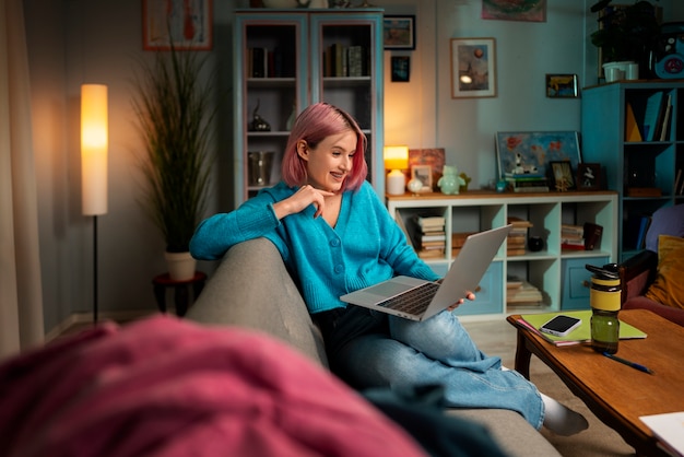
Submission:
{"label": "mustard-yellow throw pillow on the purple armchair", "polygon": [[684,238],[658,237],[658,273],[646,297],[663,305],[684,308]]}

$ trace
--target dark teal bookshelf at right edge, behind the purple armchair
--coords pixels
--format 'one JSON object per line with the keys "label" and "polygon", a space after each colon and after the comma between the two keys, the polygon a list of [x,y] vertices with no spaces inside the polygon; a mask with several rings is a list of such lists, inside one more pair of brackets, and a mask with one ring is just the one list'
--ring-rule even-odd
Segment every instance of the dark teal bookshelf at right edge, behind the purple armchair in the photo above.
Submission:
{"label": "dark teal bookshelf at right edge, behind the purple armchair", "polygon": [[[684,203],[684,82],[618,82],[582,92],[582,160],[618,194],[621,261],[642,249],[659,208]],[[679,179],[677,179],[679,175]]]}

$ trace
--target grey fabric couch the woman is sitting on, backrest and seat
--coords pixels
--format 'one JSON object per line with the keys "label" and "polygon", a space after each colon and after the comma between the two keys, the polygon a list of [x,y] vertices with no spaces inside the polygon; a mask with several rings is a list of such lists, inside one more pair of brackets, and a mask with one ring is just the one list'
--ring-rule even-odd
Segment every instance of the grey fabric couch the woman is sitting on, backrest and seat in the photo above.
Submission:
{"label": "grey fabric couch the woman is sitting on, backrest and seat", "polygon": [[[327,366],[320,332],[280,254],[267,239],[231,248],[186,317],[207,325],[236,325],[263,331]],[[511,456],[559,455],[516,412],[451,409],[448,413],[483,423]]]}

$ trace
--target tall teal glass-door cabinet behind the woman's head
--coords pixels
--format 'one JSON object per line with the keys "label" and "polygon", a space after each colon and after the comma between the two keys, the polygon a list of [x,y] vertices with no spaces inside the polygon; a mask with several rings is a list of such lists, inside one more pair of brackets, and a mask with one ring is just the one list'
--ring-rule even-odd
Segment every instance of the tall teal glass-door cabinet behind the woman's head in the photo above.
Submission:
{"label": "tall teal glass-door cabinet behind the woman's head", "polygon": [[384,196],[382,10],[238,9],[233,31],[235,204],[280,180],[294,118],[317,102],[359,124],[368,180]]}

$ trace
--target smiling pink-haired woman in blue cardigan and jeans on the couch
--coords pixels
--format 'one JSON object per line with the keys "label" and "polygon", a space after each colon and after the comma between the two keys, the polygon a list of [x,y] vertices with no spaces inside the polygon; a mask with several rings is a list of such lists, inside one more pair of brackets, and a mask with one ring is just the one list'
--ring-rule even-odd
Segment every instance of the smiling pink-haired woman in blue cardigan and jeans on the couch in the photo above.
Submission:
{"label": "smiling pink-haired woman in blue cardigan and jeans on the couch", "polygon": [[307,107],[287,141],[283,180],[202,221],[192,255],[215,260],[237,243],[270,239],[321,329],[332,372],[355,388],[440,385],[449,407],[510,409],[562,434],[586,429],[580,414],[482,353],[452,313],[416,323],[340,301],[398,274],[439,280],[366,181],[366,144],[344,110]]}

